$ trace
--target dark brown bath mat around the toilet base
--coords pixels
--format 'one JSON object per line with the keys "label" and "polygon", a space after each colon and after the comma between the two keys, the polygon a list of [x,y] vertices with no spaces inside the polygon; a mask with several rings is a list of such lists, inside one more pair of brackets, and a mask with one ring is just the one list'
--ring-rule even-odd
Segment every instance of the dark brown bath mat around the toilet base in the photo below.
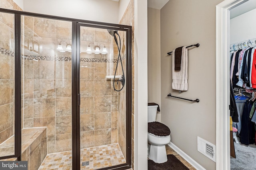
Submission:
{"label": "dark brown bath mat around the toilet base", "polygon": [[153,160],[148,160],[148,170],[189,170],[178,158],[173,154],[167,155],[167,162],[156,163]]}

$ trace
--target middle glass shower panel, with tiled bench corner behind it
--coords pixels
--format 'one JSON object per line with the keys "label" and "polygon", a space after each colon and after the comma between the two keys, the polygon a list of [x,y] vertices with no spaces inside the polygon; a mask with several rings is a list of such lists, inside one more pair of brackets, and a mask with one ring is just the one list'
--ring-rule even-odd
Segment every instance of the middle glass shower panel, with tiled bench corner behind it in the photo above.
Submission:
{"label": "middle glass shower panel, with tiled bench corner behind it", "polygon": [[21,16],[21,40],[22,160],[72,169],[72,22]]}

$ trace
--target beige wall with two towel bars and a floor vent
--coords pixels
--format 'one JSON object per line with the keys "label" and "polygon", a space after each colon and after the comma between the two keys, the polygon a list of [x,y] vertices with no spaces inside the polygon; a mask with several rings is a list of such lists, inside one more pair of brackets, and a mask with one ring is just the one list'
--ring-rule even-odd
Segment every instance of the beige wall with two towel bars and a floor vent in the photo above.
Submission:
{"label": "beige wall with two towel bars and a floor vent", "polygon": [[[215,162],[197,151],[197,136],[215,144],[215,6],[222,0],[172,0],[161,9],[161,121],[171,129],[171,142],[207,170]],[[172,90],[171,62],[166,53],[188,50],[188,91]],[[173,96],[200,99],[186,102]]]}

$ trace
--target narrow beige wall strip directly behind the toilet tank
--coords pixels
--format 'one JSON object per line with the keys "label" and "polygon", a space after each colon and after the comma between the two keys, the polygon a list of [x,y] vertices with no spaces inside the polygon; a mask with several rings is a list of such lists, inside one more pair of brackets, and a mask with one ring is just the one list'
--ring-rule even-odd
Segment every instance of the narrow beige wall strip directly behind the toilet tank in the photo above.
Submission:
{"label": "narrow beige wall strip directly behind the toilet tank", "polygon": [[[148,8],[148,102],[159,104],[161,111],[160,57],[160,10]],[[156,121],[161,121],[161,112]]]}

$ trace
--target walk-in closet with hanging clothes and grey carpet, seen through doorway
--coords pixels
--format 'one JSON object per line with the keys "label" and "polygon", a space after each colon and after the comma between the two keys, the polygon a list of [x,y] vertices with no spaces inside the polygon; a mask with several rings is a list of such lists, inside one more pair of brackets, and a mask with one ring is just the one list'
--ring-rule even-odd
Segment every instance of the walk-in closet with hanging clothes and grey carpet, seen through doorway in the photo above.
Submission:
{"label": "walk-in closet with hanging clothes and grey carpet, seen through doorway", "polygon": [[230,169],[256,167],[256,0],[230,10]]}

